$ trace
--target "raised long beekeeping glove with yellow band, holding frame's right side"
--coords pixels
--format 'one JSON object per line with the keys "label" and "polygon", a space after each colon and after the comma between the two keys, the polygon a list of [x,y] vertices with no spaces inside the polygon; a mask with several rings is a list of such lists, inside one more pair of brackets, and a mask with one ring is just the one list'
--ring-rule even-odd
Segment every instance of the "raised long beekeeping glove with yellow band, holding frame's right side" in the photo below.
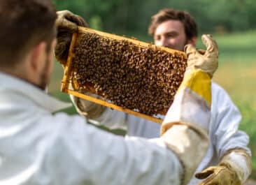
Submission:
{"label": "raised long beekeeping glove with yellow band, holding frame's right side", "polygon": [[181,184],[190,181],[208,149],[211,76],[218,67],[218,46],[211,36],[203,35],[202,40],[207,47],[205,54],[190,45],[186,47],[183,82],[161,126],[161,138],[183,165]]}

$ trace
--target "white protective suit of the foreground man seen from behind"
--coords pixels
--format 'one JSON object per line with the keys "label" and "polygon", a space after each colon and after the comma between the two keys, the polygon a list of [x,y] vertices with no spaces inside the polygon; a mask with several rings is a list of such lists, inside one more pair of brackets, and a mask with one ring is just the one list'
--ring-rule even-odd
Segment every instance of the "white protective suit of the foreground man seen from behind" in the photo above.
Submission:
{"label": "white protective suit of the foreground man seen from behind", "polygon": [[[186,165],[181,165],[178,157],[190,159],[195,155],[192,150],[200,149],[197,143],[186,143],[190,152],[179,145],[177,149],[184,155],[177,157],[162,138],[151,141],[155,144],[143,138],[123,138],[90,126],[80,116],[52,115],[67,104],[15,77],[0,73],[0,84],[1,185],[178,185]],[[206,151],[206,133],[204,138],[201,145]],[[178,140],[169,141],[175,146]]]}

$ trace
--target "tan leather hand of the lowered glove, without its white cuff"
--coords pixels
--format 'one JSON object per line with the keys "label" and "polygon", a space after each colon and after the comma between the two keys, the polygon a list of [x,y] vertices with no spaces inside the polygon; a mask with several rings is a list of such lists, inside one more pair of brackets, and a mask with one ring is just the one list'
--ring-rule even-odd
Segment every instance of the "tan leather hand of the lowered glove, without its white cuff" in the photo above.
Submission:
{"label": "tan leather hand of the lowered glove, without its white cuff", "polygon": [[227,163],[211,166],[195,175],[197,179],[204,179],[199,185],[240,185],[241,181]]}

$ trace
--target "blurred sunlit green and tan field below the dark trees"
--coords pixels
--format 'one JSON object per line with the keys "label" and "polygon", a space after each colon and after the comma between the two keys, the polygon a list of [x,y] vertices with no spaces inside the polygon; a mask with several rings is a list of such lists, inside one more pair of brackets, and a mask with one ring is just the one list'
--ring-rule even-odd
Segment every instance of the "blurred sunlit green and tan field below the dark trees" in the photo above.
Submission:
{"label": "blurred sunlit green and tan field below the dark trees", "polygon": [[[215,35],[214,38],[220,47],[220,64],[213,80],[227,90],[243,115],[240,128],[250,136],[249,147],[253,153],[251,177],[256,179],[256,31]],[[56,63],[49,91],[69,101],[66,94],[59,92],[62,73],[62,67]],[[76,112],[73,108],[66,111]]]}

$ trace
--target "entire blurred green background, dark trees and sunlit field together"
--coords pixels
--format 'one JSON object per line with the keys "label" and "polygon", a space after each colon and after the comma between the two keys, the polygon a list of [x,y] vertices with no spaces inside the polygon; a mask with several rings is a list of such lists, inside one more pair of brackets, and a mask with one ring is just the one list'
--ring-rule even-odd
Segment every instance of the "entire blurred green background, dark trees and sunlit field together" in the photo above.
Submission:
{"label": "entire blurred green background, dark trees and sunlit field together", "polygon": [[[148,36],[150,17],[162,8],[187,10],[197,20],[200,33],[213,34],[220,47],[220,65],[213,80],[224,87],[238,106],[243,119],[240,128],[250,136],[253,173],[256,179],[256,1],[255,0],[54,0],[57,10],[81,15],[90,27],[109,33],[134,36],[152,42]],[[201,35],[201,34],[200,34]],[[198,43],[198,47],[203,47]],[[59,91],[62,67],[55,63],[49,91],[69,101]],[[66,110],[76,113],[74,108]]]}

